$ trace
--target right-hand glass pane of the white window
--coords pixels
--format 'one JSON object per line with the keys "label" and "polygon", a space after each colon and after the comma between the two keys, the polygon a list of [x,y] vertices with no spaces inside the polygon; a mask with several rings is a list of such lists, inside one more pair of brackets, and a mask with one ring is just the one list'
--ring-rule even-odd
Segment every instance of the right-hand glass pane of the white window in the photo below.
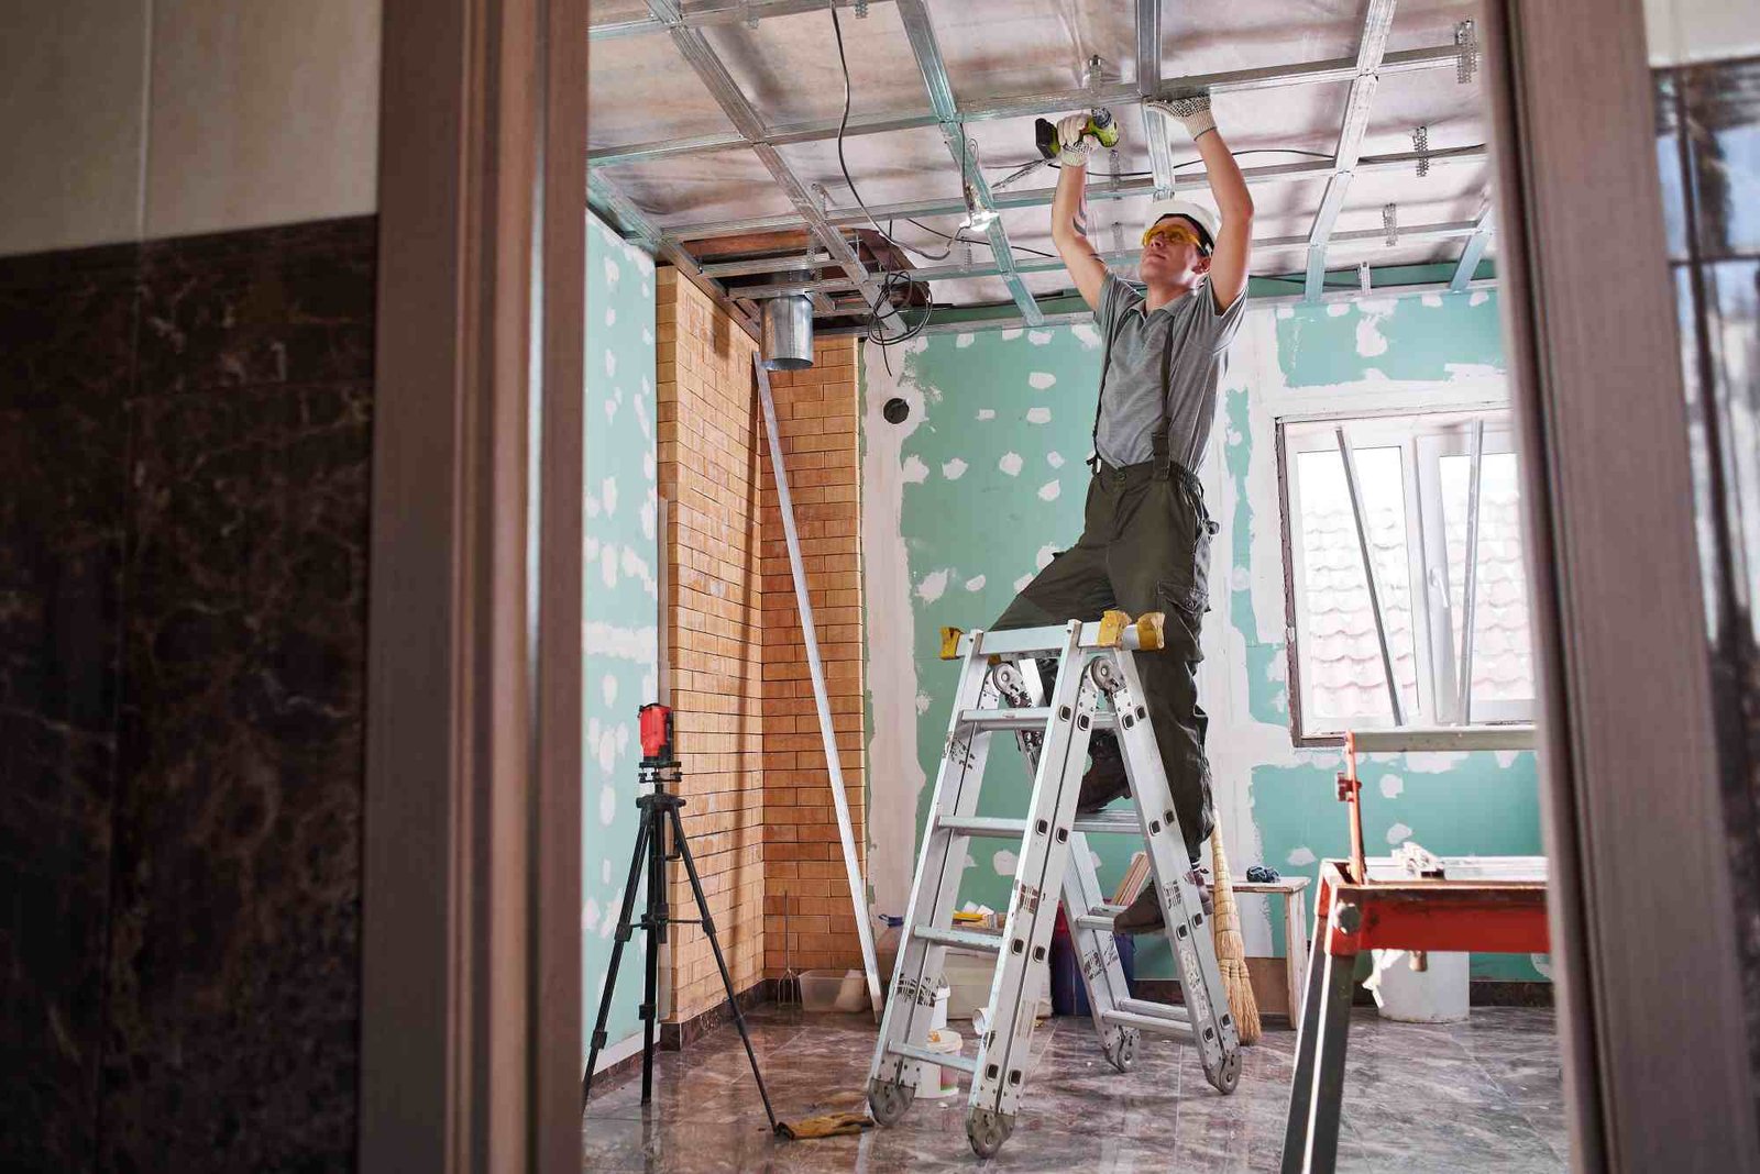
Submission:
{"label": "right-hand glass pane of the white window", "polygon": [[[1441,459],[1441,515],[1448,545],[1448,615],[1456,656],[1466,619],[1466,506],[1471,457]],[[1478,485],[1478,580],[1473,601],[1473,703],[1529,701],[1535,666],[1522,566],[1521,482],[1515,453],[1485,453]],[[1477,717],[1477,715],[1475,715]]]}

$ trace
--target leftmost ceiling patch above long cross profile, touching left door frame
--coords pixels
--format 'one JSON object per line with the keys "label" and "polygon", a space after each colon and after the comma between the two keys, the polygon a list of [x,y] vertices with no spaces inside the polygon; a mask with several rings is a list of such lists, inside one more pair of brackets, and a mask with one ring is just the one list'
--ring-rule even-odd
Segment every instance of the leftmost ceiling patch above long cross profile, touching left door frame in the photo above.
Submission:
{"label": "leftmost ceiling patch above long cross profile, touching left door frame", "polygon": [[[595,23],[604,23],[595,7]],[[591,149],[730,132],[734,125],[665,33],[614,37],[588,51]]]}

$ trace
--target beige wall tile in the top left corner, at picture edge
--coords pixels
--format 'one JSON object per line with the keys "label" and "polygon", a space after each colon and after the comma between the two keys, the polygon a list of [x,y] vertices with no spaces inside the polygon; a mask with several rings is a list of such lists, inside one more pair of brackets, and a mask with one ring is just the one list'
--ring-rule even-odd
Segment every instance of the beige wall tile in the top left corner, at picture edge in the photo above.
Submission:
{"label": "beige wall tile in the top left corner, at picture edge", "polygon": [[141,236],[146,0],[0,12],[0,255]]}

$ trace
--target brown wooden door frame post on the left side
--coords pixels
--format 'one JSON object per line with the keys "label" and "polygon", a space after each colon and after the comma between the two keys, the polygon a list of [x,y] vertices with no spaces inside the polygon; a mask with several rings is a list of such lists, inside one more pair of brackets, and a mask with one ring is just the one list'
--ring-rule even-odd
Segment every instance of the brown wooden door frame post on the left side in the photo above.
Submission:
{"label": "brown wooden door frame post on the left side", "polygon": [[384,0],[368,1170],[581,1163],[586,7]]}

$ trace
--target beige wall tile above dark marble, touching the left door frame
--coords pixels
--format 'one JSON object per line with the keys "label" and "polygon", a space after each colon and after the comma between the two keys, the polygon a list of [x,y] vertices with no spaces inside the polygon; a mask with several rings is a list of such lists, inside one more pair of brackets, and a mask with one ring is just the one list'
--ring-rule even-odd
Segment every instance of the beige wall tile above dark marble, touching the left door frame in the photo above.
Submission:
{"label": "beige wall tile above dark marble, touching the left door frame", "polygon": [[148,237],[377,207],[377,0],[155,0]]}

